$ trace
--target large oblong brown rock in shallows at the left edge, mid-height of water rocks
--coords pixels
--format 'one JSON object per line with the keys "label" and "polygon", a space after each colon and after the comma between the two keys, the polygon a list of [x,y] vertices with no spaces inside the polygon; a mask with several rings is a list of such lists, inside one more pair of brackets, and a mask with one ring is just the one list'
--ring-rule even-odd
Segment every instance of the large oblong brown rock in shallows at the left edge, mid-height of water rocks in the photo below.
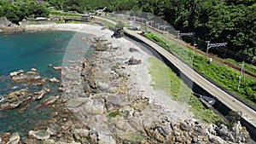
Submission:
{"label": "large oblong brown rock in shallows at the left edge, mid-height of water rocks", "polygon": [[30,100],[31,98],[32,94],[28,89],[20,89],[18,91],[11,92],[2,102],[1,110],[19,107],[20,104]]}

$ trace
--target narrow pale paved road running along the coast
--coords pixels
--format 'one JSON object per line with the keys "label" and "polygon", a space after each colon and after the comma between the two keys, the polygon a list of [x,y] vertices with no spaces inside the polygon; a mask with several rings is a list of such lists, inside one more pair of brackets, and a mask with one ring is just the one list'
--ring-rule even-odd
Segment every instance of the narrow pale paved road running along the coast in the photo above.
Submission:
{"label": "narrow pale paved road running along the coast", "polygon": [[[99,18],[99,17],[98,17]],[[99,18],[102,20],[107,20],[103,18]],[[108,22],[112,22],[116,24],[112,20],[107,20]],[[129,33],[133,37],[137,37],[142,40],[144,43],[148,43],[150,47],[158,51],[161,55],[165,56],[167,60],[172,62],[174,66],[176,66],[180,72],[183,72],[188,78],[191,78],[195,84],[201,86],[202,89],[207,90],[207,92],[211,95],[214,95],[219,101],[222,101],[225,106],[230,107],[231,110],[242,113],[242,118],[246,119],[247,122],[252,124],[254,128],[256,128],[256,112],[253,111],[250,107],[247,107],[240,101],[236,100],[233,96],[224,92],[224,90],[219,89],[216,85],[209,82],[207,79],[201,77],[200,74],[195,72],[189,66],[184,64],[181,60],[178,60],[176,56],[170,54],[166,49],[163,49],[158,44],[148,40],[148,38],[139,35],[137,32],[131,31],[125,28],[125,32]]]}

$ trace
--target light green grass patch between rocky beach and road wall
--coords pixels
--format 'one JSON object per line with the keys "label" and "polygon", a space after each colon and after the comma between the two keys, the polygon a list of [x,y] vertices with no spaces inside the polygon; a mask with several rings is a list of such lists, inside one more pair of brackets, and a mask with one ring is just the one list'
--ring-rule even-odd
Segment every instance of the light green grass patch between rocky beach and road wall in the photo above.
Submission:
{"label": "light green grass patch between rocky beach and road wall", "polygon": [[148,61],[150,63],[149,73],[155,90],[163,89],[172,99],[188,102],[189,110],[194,112],[195,118],[199,118],[203,122],[217,124],[221,121],[217,114],[204,107],[201,101],[192,95],[191,89],[183,84],[183,81],[177,77],[175,72],[172,72],[171,68],[155,57],[149,58]]}

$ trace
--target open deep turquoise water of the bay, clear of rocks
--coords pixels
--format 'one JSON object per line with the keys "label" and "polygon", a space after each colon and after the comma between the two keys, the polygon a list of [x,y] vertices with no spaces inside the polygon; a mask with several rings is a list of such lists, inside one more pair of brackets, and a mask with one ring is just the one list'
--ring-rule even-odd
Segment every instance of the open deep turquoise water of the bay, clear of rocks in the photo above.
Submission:
{"label": "open deep turquoise water of the bay, clear of rocks", "polygon": [[45,72],[49,63],[61,64],[75,32],[0,34],[0,75],[32,67]]}

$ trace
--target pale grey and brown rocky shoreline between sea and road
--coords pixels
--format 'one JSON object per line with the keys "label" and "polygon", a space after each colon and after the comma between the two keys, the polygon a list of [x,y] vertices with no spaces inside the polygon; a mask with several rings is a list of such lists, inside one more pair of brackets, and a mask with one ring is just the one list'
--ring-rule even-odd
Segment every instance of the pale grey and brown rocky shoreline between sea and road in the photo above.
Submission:
{"label": "pale grey and brown rocky shoreline between sea and road", "polygon": [[[100,26],[86,32],[96,29],[99,35]],[[241,143],[248,140],[249,135],[240,123],[230,130],[224,125],[203,124],[189,118],[188,111],[182,115],[172,111],[169,107],[178,108],[175,101],[173,106],[162,104],[165,99],[158,98],[164,94],[150,86],[147,62],[150,55],[125,38],[111,38],[111,32],[104,32],[102,37],[84,38],[84,43],[93,43],[87,50],[92,56],[68,60],[69,65],[58,68],[61,81],[52,79],[51,82],[57,82],[62,93],[51,95],[40,104],[54,111],[49,121],[36,124],[26,141],[18,133],[3,133],[3,143]],[[12,72],[10,77],[14,83],[27,85],[51,83],[34,70]],[[2,110],[19,107],[28,99],[42,98],[49,91],[47,87],[36,93],[20,89],[4,96],[0,105]]]}

